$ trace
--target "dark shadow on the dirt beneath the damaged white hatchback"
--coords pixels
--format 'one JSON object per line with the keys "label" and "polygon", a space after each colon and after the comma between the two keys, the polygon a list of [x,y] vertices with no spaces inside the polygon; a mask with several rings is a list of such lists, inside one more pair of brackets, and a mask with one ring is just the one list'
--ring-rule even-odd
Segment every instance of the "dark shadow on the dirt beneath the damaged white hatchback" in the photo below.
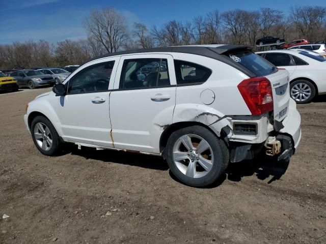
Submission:
{"label": "dark shadow on the dirt beneath the damaged white hatchback", "polygon": [[[82,147],[82,149],[79,150],[76,145],[67,144],[62,155],[65,154],[153,170],[166,171],[169,169],[167,162],[161,157],[124,151],[96,150],[90,147]],[[265,156],[257,156],[253,160],[245,160],[238,163],[229,163],[226,172],[209,188],[219,187],[226,179],[230,181],[240,181],[243,177],[252,176],[254,174],[259,180],[265,180],[270,177],[267,184],[271,184],[285,174],[288,165],[289,162],[278,162],[273,158],[267,158]],[[171,171],[169,171],[169,173],[174,180],[179,181]]]}

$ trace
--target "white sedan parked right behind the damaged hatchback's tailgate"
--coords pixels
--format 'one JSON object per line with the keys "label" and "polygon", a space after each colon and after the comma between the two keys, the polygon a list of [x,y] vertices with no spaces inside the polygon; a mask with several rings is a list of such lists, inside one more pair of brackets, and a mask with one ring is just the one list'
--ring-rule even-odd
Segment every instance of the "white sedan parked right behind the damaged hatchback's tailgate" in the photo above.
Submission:
{"label": "white sedan parked right behind the damaged hatchback's tailgate", "polygon": [[257,52],[270,63],[289,72],[290,93],[296,103],[309,103],[326,94],[326,59],[294,50]]}

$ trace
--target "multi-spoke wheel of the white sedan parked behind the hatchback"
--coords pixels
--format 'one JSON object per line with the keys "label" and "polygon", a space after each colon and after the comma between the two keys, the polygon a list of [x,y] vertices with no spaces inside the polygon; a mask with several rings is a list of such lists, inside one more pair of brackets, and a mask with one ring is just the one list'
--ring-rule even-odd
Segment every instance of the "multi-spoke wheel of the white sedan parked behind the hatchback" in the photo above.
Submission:
{"label": "multi-spoke wheel of the white sedan parked behind the hatchback", "polygon": [[315,97],[315,86],[308,80],[296,80],[291,83],[291,98],[296,103],[310,103]]}

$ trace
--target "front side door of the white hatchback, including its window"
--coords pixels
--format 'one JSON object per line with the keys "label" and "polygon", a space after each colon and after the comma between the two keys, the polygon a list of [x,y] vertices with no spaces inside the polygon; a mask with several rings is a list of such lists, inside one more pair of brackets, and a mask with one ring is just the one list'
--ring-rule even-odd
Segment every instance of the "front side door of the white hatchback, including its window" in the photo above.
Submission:
{"label": "front side door of the white hatchback, including its window", "polygon": [[118,63],[119,57],[97,61],[65,82],[67,95],[57,103],[65,140],[113,147],[109,89]]}

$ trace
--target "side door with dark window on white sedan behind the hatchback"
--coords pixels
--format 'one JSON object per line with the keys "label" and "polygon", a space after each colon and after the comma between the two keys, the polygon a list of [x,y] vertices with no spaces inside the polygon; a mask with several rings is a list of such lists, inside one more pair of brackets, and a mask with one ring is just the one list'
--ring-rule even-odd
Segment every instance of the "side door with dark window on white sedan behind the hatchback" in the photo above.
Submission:
{"label": "side door with dark window on white sedan behind the hatchback", "polygon": [[286,69],[291,76],[296,69],[295,63],[291,55],[287,53],[267,52],[264,56],[270,63],[278,68]]}

